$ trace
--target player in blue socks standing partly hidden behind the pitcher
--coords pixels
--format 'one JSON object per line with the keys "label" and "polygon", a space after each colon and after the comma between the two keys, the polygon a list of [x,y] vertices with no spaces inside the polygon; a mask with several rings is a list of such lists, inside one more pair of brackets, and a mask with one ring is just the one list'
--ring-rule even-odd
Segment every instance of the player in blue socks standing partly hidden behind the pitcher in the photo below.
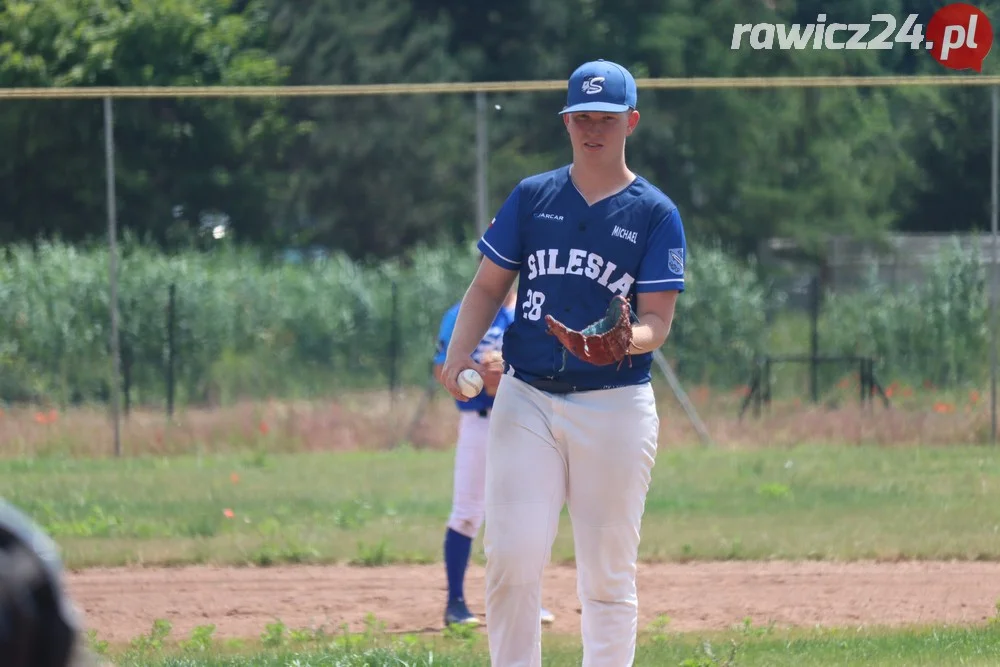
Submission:
{"label": "player in blue socks standing partly hidden behind the pitcher", "polygon": [[[482,262],[482,255],[479,260]],[[517,292],[508,290],[507,298],[489,329],[472,353],[472,358],[484,368],[483,391],[471,400],[458,401],[458,442],[455,445],[455,468],[451,515],[444,537],[444,563],[448,578],[448,602],[445,625],[479,625],[479,619],[465,603],[465,573],[469,566],[472,542],[483,523],[486,486],[486,439],[489,434],[493,396],[503,374],[500,355],[503,332],[514,321]],[[434,376],[441,380],[441,365],[455,327],[460,304],[452,306],[441,320],[437,350],[434,355]],[[555,616],[541,610],[542,623],[552,623]]]}

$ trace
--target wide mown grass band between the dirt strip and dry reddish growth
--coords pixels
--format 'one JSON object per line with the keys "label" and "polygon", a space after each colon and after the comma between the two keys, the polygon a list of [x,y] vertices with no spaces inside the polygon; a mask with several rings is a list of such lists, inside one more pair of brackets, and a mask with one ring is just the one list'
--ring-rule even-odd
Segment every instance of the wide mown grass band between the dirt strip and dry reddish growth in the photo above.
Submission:
{"label": "wide mown grass band between the dirt strip and dry reddish growth", "polygon": [[[70,567],[430,562],[452,454],[247,453],[0,462]],[[982,447],[665,449],[644,560],[995,559],[1000,458]],[[553,551],[572,558],[564,513]]]}

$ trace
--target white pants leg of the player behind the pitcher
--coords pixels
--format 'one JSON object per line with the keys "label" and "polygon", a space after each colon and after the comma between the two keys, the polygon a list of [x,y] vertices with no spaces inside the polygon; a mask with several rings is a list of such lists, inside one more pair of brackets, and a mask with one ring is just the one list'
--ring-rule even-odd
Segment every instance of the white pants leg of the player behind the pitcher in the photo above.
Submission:
{"label": "white pants leg of the player behind the pitcher", "polygon": [[483,524],[486,493],[486,438],[489,417],[464,410],[458,417],[454,482],[448,528],[476,539]]}

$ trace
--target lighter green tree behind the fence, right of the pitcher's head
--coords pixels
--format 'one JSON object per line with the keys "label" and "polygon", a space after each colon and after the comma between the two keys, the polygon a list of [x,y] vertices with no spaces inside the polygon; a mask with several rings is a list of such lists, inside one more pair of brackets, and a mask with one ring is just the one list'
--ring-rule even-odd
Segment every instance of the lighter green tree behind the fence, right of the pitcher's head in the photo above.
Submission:
{"label": "lighter green tree behind the fence, right of the pitcher's head", "polygon": [[[642,34],[633,57],[655,77],[886,73],[878,52],[731,48],[737,23],[816,20],[808,3],[784,4],[792,6],[671,0],[632,28]],[[674,194],[695,236],[743,252],[788,236],[818,253],[831,234],[877,236],[894,224],[905,126],[890,112],[891,92],[732,88],[645,97],[636,166]]]}

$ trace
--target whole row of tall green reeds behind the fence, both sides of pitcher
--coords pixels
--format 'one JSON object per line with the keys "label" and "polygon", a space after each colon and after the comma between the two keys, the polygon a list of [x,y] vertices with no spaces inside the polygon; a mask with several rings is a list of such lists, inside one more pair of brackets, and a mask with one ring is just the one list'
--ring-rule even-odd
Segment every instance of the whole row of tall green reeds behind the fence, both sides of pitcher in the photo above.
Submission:
{"label": "whole row of tall green reeds behind the fence, both sides of pitcher", "polygon": [[[807,339],[799,349],[796,341],[781,349],[769,343],[771,329],[783,325],[781,316],[769,324],[767,313],[781,311],[784,295],[758,267],[717,247],[689,255],[688,289],[665,348],[682,380],[728,389],[746,382],[760,354],[808,350]],[[374,265],[341,255],[292,264],[225,244],[166,255],[126,239],[118,280],[129,400],[161,403],[170,359],[179,404],[421,384],[440,318],[475,270],[467,247],[419,248]],[[104,247],[7,249],[0,400],[106,400],[108,285]],[[955,250],[925,284],[889,290],[873,282],[857,294],[832,295],[822,351],[873,355],[883,378],[974,383],[985,372],[986,305],[982,268]]]}

